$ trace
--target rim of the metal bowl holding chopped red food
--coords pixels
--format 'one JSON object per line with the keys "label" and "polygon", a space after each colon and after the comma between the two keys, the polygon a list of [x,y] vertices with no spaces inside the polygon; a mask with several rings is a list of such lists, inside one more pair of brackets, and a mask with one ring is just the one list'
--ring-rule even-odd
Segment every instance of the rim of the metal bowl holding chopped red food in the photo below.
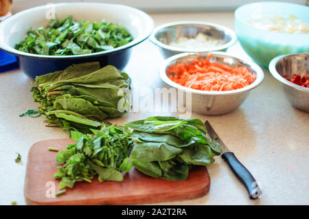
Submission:
{"label": "rim of the metal bowl holding chopped red food", "polygon": [[301,54],[307,54],[309,55],[309,52],[301,52],[301,53],[292,53],[292,54],[283,54],[280,56],[276,56],[275,58],[273,58],[271,60],[271,62],[269,62],[268,65],[268,69],[269,72],[271,72],[271,74],[273,75],[274,78],[276,78],[279,82],[282,82],[282,84],[287,85],[288,87],[292,87],[293,89],[297,89],[299,91],[305,91],[305,92],[309,92],[309,89],[306,87],[301,87],[297,84],[294,84],[293,82],[290,82],[288,80],[286,80],[284,77],[282,77],[279,72],[276,69],[276,65],[277,62],[279,62],[279,60],[281,60],[282,58],[288,57],[288,56],[295,56],[295,55],[301,55]]}

